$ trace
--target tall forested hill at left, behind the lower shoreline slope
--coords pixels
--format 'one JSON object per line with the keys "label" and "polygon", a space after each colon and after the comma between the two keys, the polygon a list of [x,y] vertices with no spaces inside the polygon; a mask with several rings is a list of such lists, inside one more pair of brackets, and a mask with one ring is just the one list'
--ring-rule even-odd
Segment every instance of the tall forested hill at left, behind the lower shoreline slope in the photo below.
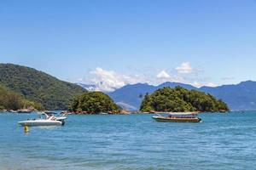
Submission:
{"label": "tall forested hill at left, behind the lower shoreline slope", "polygon": [[43,104],[47,110],[66,110],[73,97],[86,91],[43,71],[13,64],[0,64],[0,85]]}

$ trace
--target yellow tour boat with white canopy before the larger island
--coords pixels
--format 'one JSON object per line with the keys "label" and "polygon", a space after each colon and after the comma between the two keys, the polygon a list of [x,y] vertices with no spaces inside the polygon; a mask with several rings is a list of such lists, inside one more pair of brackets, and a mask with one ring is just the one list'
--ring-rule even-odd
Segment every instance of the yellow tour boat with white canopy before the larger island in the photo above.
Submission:
{"label": "yellow tour boat with white canopy before the larger island", "polygon": [[168,116],[152,117],[157,122],[201,122],[201,118],[197,117],[196,113],[168,113]]}

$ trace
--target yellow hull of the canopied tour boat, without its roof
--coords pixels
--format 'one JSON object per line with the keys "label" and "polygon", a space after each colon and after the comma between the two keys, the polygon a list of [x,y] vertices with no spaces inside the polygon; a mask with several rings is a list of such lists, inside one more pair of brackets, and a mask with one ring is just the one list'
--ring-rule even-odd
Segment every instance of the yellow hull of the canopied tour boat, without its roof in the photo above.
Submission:
{"label": "yellow hull of the canopied tour boat, without its roof", "polygon": [[179,118],[179,117],[165,117],[165,116],[153,116],[157,122],[201,122],[201,118]]}

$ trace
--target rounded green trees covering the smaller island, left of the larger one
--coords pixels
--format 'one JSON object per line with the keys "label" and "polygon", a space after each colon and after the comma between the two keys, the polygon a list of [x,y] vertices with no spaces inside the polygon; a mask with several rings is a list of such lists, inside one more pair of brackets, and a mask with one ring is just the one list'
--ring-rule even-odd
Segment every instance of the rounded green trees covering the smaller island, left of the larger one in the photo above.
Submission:
{"label": "rounded green trees covering the smaller island, left of the larger one", "polygon": [[102,92],[87,92],[73,99],[70,110],[93,114],[115,112],[119,111],[119,108],[107,94],[103,94]]}

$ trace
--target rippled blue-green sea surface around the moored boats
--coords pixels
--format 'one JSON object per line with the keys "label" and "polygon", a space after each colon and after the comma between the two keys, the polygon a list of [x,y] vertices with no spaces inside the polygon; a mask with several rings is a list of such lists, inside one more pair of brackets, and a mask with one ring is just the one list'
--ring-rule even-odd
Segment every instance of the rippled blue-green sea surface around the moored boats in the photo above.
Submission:
{"label": "rippled blue-green sea surface around the moored boats", "polygon": [[256,111],[199,115],[201,123],[153,115],[68,116],[30,127],[35,114],[0,114],[0,169],[256,169]]}

